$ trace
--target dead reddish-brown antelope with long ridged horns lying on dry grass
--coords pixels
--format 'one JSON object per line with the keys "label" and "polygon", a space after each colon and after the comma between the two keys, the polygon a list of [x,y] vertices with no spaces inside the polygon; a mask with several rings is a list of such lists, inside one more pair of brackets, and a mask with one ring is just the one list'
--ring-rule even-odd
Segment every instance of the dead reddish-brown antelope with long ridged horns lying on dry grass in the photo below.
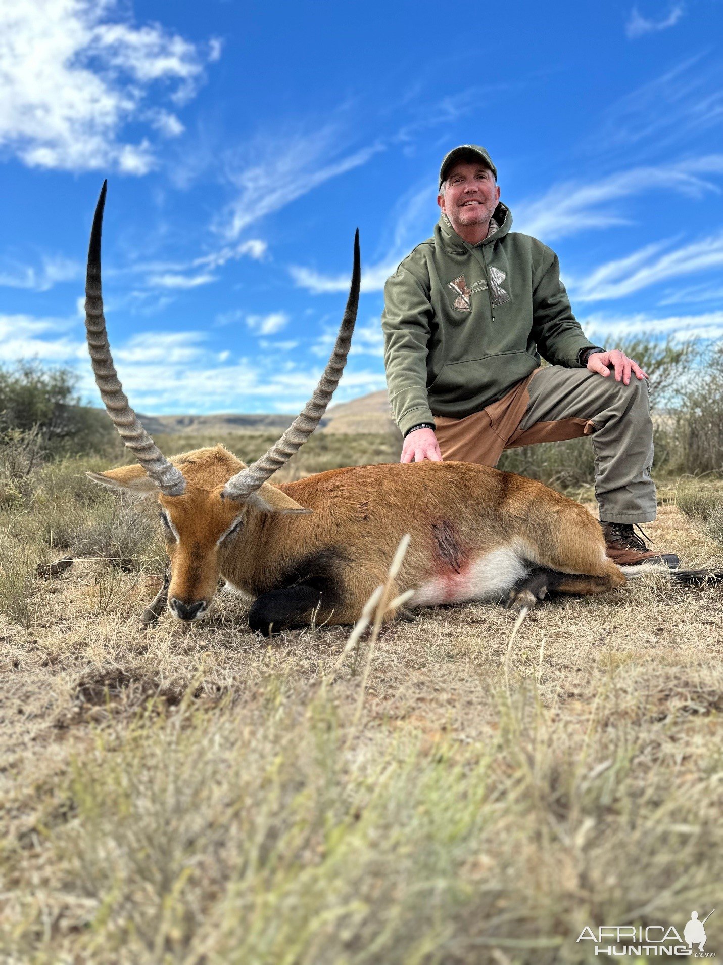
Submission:
{"label": "dead reddish-brown antelope with long ridged horns lying on dry grass", "polygon": [[[410,549],[392,590],[408,606],[507,598],[533,606],[547,593],[604,593],[650,566],[605,556],[597,520],[542,483],[464,462],[355,466],[296,483],[269,483],[318,425],[338,384],[357,316],[359,234],[346,311],[326,371],[303,412],[266,455],[245,466],[223,446],[167,459],[123,394],[103,317],[100,234],[106,185],[88,253],[86,328],[95,381],[139,465],[89,473],[96,483],[157,498],[170,582],[148,609],[198,620],[219,577],[254,597],[249,623],[263,633],[353,623],[386,579],[400,538]],[[705,574],[671,574],[700,582]],[[395,616],[388,612],[387,619]]]}

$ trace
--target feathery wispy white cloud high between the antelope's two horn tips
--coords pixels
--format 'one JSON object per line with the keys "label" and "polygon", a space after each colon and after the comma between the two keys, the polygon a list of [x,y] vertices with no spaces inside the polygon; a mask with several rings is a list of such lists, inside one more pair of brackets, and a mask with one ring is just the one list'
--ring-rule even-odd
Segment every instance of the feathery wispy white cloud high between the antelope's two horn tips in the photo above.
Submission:
{"label": "feathery wispy white cloud high between the antelope's two horn tips", "polygon": [[380,144],[340,155],[340,134],[334,125],[308,134],[275,133],[258,138],[249,149],[249,158],[232,158],[228,178],[238,196],[217,222],[217,229],[229,240],[259,218],[281,210],[312,188],[365,164]]}

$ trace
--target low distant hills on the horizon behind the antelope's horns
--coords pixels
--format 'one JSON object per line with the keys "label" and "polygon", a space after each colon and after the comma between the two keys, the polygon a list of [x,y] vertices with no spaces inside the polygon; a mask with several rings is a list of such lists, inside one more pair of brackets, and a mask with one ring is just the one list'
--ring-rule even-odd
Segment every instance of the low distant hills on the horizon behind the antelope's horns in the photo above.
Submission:
{"label": "low distant hills on the horizon behind the antelope's horns", "polygon": [[[276,432],[291,425],[297,413],[226,413],[210,416],[147,416],[139,418],[151,435],[169,433],[227,435],[229,432]],[[372,392],[360,399],[342,402],[327,409],[318,431],[356,434],[359,432],[396,434],[387,391]]]}

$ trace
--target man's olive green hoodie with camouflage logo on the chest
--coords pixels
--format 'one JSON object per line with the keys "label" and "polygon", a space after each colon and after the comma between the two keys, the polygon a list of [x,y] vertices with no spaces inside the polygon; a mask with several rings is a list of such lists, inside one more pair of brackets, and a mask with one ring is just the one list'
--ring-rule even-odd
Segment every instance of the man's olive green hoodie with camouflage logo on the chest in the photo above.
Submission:
{"label": "man's olive green hoodie with camouflage logo on the chest", "polygon": [[471,245],[442,214],[434,236],[388,279],[385,367],[402,433],[501,399],[541,354],[578,369],[580,351],[596,347],[573,315],[557,256],[511,225],[499,204],[490,234]]}

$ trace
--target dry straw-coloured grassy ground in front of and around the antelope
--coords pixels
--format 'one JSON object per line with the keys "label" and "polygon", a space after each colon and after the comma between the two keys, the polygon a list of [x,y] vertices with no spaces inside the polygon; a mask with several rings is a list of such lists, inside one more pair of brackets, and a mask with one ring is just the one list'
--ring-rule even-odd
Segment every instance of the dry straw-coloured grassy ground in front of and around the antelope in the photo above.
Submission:
{"label": "dry straw-coloured grassy ground in front of and around the antelope", "polygon": [[[514,615],[491,605],[343,657],[347,630],[269,644],[228,593],[143,630],[152,520],[128,504],[114,555],[117,504],[53,473],[0,517],[32,601],[0,590],[3,961],[551,965],[590,960],[585,924],[719,904],[720,591],[645,578],[540,607],[509,692]],[[720,568],[660,495],[656,544]],[[95,555],[35,576],[61,542]]]}

